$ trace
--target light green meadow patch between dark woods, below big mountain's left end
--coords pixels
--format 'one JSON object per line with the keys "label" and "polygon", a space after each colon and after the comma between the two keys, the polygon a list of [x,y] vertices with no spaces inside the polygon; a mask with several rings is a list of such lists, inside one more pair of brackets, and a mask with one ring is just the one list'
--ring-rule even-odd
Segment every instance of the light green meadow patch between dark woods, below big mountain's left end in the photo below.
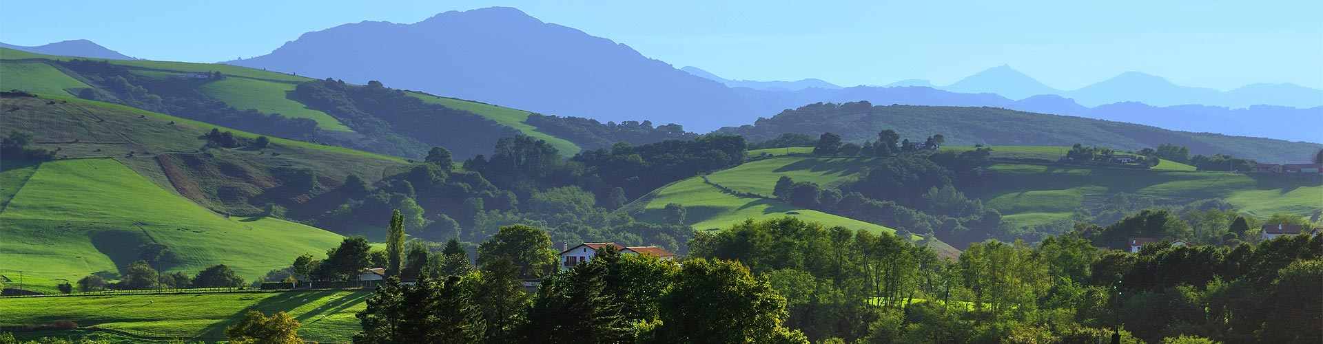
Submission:
{"label": "light green meadow patch between dark woods, below big mountain's left end", "polygon": [[296,85],[249,78],[225,78],[208,82],[200,89],[208,97],[225,102],[234,108],[254,108],[265,114],[282,114],[288,118],[307,118],[318,122],[318,127],[328,131],[352,131],[335,116],[308,108],[303,103],[284,97]]}

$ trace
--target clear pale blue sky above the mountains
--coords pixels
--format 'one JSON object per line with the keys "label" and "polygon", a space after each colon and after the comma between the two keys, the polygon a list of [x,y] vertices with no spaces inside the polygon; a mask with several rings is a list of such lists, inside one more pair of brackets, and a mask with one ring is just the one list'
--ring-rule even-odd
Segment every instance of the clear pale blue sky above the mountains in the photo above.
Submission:
{"label": "clear pale blue sky above the mountains", "polygon": [[1138,70],[1230,89],[1323,87],[1323,1],[30,1],[0,0],[0,41],[87,38],[151,60],[265,54],[344,22],[516,7],[726,78],[938,85],[1009,64],[1076,89]]}

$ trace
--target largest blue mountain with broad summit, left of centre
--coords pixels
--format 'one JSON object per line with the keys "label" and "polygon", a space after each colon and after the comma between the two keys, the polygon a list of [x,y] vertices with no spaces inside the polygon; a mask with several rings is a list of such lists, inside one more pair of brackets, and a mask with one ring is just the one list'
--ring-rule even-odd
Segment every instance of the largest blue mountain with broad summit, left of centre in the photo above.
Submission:
{"label": "largest blue mountain with broad summit, left of centre", "polygon": [[750,114],[720,82],[513,8],[445,12],[414,24],[345,24],[226,64],[352,83],[374,79],[601,120],[655,118],[710,130],[738,123],[742,118],[736,114]]}

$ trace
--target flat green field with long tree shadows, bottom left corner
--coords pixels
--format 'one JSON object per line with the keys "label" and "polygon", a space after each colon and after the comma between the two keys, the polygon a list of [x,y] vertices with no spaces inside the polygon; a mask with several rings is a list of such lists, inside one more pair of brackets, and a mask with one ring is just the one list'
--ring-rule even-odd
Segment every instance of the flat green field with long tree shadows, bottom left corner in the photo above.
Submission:
{"label": "flat green field with long tree shadows, bottom left corner", "polygon": [[[74,320],[79,327],[118,329],[146,336],[216,341],[225,327],[249,310],[288,312],[303,325],[304,340],[348,343],[360,329],[353,315],[364,310],[365,291],[286,291],[181,295],[115,295],[0,299],[0,324],[45,324]],[[46,331],[42,336],[78,336],[86,331]],[[112,340],[116,336],[110,336]]]}

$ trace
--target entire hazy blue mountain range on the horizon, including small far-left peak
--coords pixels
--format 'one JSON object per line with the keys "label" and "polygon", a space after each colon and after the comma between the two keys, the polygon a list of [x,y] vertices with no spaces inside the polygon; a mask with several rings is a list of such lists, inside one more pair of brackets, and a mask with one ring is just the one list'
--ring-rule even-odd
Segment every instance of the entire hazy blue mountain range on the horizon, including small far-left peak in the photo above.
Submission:
{"label": "entire hazy blue mountain range on the horizon, including small far-left peak", "polygon": [[[67,56],[128,58],[89,41],[24,49],[56,48],[66,49],[60,54]],[[542,22],[515,8],[452,11],[414,24],[345,24],[304,33],[270,54],[226,64],[360,85],[377,79],[400,89],[603,122],[680,123],[699,132],[746,124],[806,103],[869,101],[991,106],[1183,131],[1323,142],[1315,130],[1323,127],[1323,91],[1290,83],[1217,91],[1123,73],[1062,91],[1007,65],[947,86],[925,79],[853,87],[811,78],[728,79],[693,66],[676,69],[624,44]]]}

